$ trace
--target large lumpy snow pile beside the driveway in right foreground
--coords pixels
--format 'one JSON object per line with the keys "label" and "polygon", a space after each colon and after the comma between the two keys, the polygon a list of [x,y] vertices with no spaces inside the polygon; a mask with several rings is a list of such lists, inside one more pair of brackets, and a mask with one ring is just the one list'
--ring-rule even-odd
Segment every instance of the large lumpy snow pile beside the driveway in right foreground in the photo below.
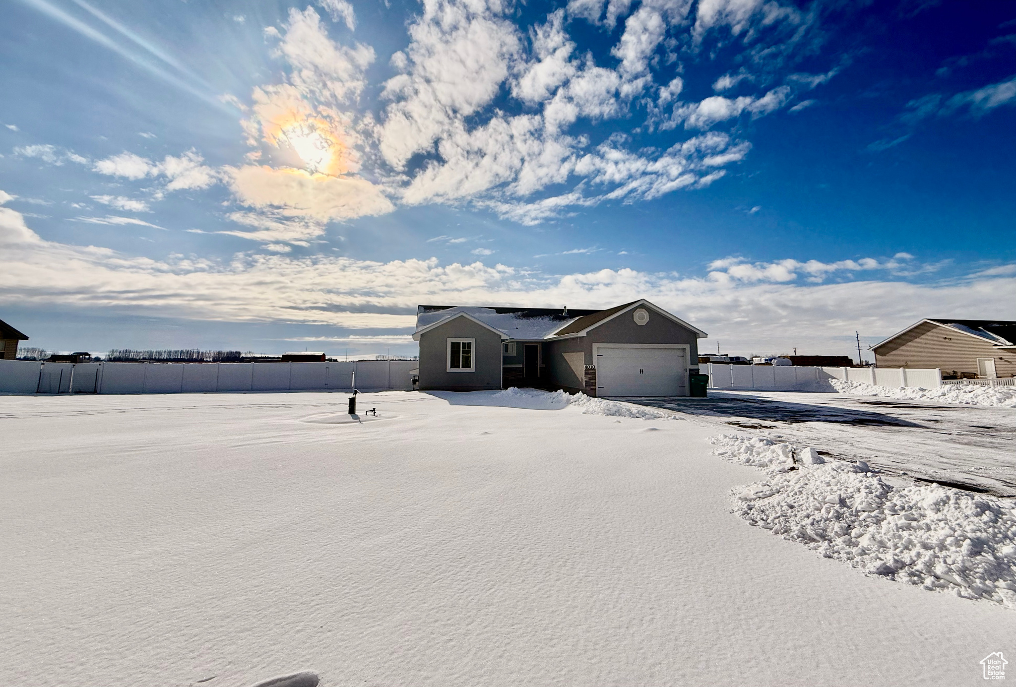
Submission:
{"label": "large lumpy snow pile beside the driveway in right foreground", "polygon": [[869,574],[1016,609],[1016,507],[938,485],[896,488],[864,462],[761,437],[711,437],[713,451],[768,473],[735,490],[738,514]]}

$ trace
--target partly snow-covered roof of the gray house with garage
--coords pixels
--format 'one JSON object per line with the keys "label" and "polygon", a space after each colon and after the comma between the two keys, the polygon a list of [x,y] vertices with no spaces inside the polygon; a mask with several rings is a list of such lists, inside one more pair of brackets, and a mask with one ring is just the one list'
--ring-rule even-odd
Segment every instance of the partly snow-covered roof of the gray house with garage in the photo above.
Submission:
{"label": "partly snow-covered roof of the gray house with garage", "polygon": [[417,330],[412,337],[419,339],[419,335],[424,331],[462,315],[489,329],[500,332],[503,338],[538,340],[557,336],[583,335],[589,329],[640,304],[649,306],[663,316],[688,327],[699,334],[699,338],[706,335],[701,329],[693,327],[648,301],[638,300],[607,310],[422,305],[417,308]]}

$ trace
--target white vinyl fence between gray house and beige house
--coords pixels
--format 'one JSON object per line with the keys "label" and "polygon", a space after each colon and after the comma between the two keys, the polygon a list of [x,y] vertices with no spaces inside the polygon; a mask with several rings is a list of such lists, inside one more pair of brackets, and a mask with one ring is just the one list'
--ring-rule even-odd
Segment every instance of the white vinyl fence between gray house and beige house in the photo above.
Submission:
{"label": "white vinyl fence between gray house and beige house", "polygon": [[832,391],[830,379],[845,379],[879,386],[942,386],[941,370],[910,368],[799,367],[796,365],[723,365],[699,366],[709,375],[711,389],[759,389],[768,391]]}

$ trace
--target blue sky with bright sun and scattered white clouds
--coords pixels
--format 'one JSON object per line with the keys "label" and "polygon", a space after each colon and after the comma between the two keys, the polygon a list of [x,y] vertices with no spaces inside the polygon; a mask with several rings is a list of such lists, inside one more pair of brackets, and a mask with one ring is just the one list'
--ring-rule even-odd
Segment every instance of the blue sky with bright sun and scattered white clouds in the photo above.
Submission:
{"label": "blue sky with bright sun and scattered white clouds", "polygon": [[724,352],[1016,319],[1016,5],[17,0],[0,318],[406,354],[648,298]]}

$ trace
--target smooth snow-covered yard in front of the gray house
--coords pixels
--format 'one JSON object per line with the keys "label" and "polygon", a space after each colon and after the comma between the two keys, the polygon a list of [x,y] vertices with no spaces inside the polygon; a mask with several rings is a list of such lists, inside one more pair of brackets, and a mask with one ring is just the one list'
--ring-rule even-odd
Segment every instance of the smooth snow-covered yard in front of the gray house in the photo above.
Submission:
{"label": "smooth snow-covered yard in front of the gray house", "polygon": [[732,512],[765,475],[709,438],[821,423],[552,396],[0,397],[0,684],[963,685],[1016,653],[1001,604]]}

